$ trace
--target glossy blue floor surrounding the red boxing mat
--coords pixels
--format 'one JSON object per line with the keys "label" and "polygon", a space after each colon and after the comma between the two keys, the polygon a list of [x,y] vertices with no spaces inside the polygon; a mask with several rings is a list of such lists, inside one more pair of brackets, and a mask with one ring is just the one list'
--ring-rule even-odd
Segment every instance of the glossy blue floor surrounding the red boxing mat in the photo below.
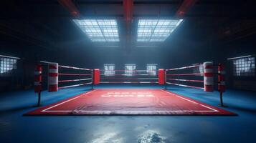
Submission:
{"label": "glossy blue floor surrounding the red boxing mat", "polygon": [[[96,88],[161,88],[159,86],[104,86]],[[43,92],[42,105],[90,90],[89,87]],[[217,106],[218,92],[169,87],[169,91]],[[36,109],[32,90],[0,94],[0,142],[256,142],[255,92],[228,90],[224,103],[239,114],[220,116],[39,116],[22,114]],[[225,108],[226,109],[226,108]]]}

